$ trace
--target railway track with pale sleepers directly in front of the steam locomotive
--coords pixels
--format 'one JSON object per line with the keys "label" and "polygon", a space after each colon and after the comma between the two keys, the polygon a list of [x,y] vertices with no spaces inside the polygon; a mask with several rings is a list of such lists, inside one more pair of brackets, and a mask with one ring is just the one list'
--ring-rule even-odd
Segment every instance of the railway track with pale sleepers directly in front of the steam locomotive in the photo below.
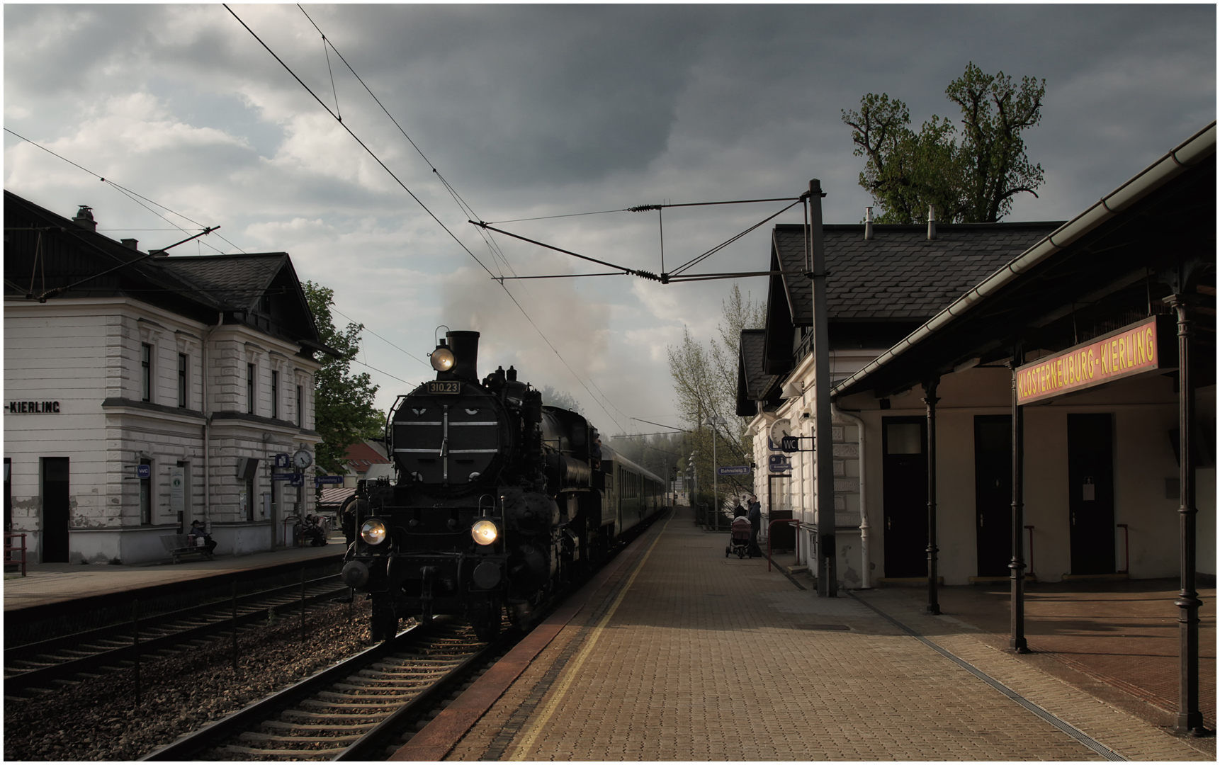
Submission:
{"label": "railway track with pale sleepers directly in front of the steam locomotive", "polygon": [[416,625],[144,760],[368,760],[511,638],[481,643],[465,622]]}

